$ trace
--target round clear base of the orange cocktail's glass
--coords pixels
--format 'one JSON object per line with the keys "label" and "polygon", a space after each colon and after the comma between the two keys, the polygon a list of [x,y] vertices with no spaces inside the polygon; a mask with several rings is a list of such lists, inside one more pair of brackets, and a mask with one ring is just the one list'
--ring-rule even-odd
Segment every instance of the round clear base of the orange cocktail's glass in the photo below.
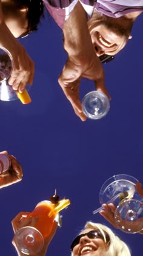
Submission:
{"label": "round clear base of the orange cocktail's glass", "polygon": [[44,245],[42,234],[35,227],[22,227],[15,234],[15,243],[23,254],[37,254]]}

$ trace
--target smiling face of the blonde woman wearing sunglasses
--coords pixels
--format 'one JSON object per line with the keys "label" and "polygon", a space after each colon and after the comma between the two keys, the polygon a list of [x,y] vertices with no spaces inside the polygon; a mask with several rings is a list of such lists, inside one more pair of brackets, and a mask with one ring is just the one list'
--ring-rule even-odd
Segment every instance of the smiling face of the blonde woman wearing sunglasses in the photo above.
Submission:
{"label": "smiling face of the blonde woman wearing sunglasses", "polygon": [[[80,233],[84,234],[93,229],[85,229]],[[73,256],[105,256],[107,246],[102,238],[88,238],[87,235],[82,236],[79,244],[73,247]]]}

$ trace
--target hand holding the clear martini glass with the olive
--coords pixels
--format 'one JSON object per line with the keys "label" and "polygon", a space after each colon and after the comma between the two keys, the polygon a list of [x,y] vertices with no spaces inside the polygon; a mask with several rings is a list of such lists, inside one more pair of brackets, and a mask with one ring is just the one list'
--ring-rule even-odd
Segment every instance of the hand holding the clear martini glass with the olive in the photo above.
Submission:
{"label": "hand holding the clear martini glass with the olive", "polygon": [[[143,187],[141,186],[141,183],[139,183],[139,182],[136,183],[136,191],[143,198]],[[107,219],[107,221],[110,222],[113,225],[113,227],[118,229],[118,227],[116,226],[115,218],[114,218],[116,206],[114,204],[103,204],[102,206],[104,207],[104,210],[102,210],[99,213],[105,219]],[[137,222],[136,223],[137,225],[141,224],[141,219],[139,219],[139,223],[138,223],[138,221],[136,221],[136,222]],[[142,219],[142,222],[143,222],[143,219]],[[143,230],[141,230],[139,233],[143,234]]]}

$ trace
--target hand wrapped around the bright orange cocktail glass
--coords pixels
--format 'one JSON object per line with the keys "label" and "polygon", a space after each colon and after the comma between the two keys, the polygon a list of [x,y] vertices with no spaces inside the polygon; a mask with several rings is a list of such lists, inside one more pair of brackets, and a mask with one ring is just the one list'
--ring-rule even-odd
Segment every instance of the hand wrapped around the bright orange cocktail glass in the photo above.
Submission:
{"label": "hand wrapped around the bright orange cocktail glass", "polygon": [[[16,233],[16,230],[20,229],[21,227],[25,227],[28,225],[35,226],[35,222],[37,220],[36,218],[28,218],[28,219],[25,219],[25,221],[21,222],[21,218],[22,217],[25,218],[28,214],[29,214],[29,212],[21,212],[12,220],[12,227],[13,227],[14,233]],[[58,226],[58,222],[55,221],[53,224],[52,232],[50,233],[50,235],[47,238],[44,239],[44,246],[42,247],[41,252],[38,252],[38,254],[33,254],[34,256],[45,256],[46,255],[46,252],[48,249],[48,244],[50,244],[50,241],[52,240],[53,236],[55,235],[57,226]],[[20,252],[18,247],[16,246],[15,236],[13,237],[12,244],[15,247],[15,249],[18,253],[18,256],[25,256],[25,254]]]}

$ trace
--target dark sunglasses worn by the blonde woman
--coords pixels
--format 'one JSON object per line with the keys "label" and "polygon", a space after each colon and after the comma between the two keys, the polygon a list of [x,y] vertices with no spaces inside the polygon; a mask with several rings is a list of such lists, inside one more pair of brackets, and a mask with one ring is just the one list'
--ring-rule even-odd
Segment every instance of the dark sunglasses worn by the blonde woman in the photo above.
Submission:
{"label": "dark sunglasses worn by the blonde woman", "polygon": [[[84,233],[84,234],[76,236],[76,238],[73,240],[73,242],[71,243],[71,246],[70,246],[70,251],[71,252],[73,251],[73,248],[77,244],[79,244],[81,237],[85,236],[85,235],[87,235],[88,238],[90,238],[90,239],[101,238],[102,240],[104,240],[104,236],[102,235],[102,233],[101,233],[101,231],[99,229],[98,230],[91,230],[88,233]],[[105,238],[106,238],[107,243],[109,243],[110,242],[110,237],[109,237],[109,235],[107,233],[105,233]]]}

